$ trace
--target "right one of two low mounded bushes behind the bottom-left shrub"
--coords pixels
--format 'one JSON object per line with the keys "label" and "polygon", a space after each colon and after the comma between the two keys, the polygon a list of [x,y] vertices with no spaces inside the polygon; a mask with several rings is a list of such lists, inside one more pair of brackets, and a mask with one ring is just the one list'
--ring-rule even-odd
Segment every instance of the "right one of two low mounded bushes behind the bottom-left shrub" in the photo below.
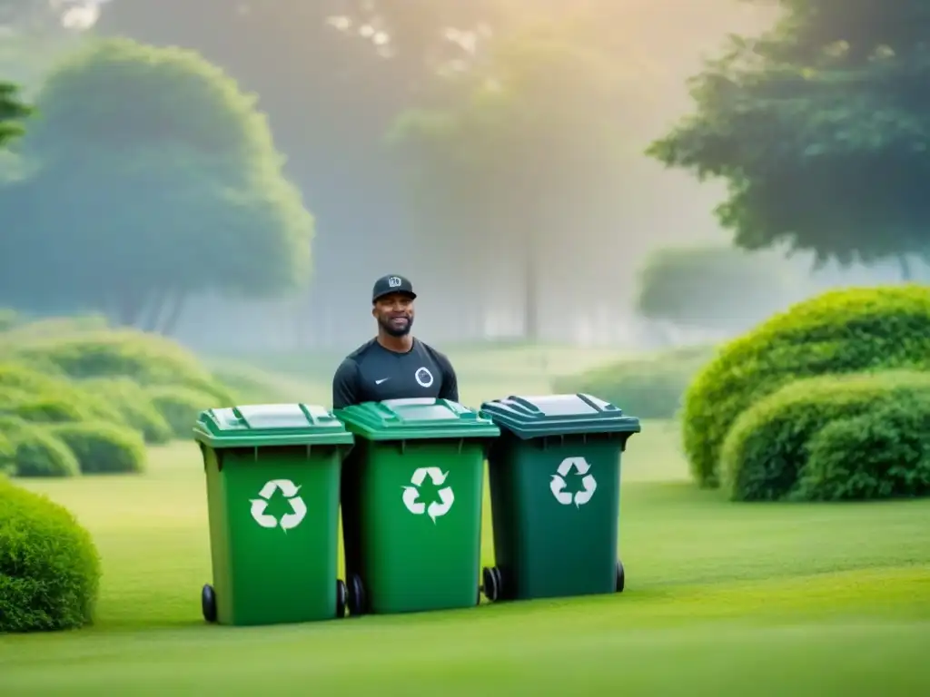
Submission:
{"label": "right one of two low mounded bushes behind the bottom-left shrub", "polygon": [[71,449],[84,474],[145,470],[145,441],[137,431],[100,422],[59,424],[51,432]]}

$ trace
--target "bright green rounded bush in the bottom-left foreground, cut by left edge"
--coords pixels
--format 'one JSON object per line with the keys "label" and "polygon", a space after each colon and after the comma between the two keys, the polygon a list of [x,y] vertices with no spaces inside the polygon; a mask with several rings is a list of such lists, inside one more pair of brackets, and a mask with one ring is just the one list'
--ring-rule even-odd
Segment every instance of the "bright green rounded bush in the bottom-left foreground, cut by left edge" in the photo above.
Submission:
{"label": "bright green rounded bush in the bottom-left foreground, cut by left edge", "polygon": [[64,507],[0,479],[0,632],[93,621],[100,556]]}

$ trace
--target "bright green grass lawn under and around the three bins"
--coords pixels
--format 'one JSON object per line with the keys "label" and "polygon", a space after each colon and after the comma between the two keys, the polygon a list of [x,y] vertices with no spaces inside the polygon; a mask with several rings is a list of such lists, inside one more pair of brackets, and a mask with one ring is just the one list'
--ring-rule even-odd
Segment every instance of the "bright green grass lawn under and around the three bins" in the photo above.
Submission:
{"label": "bright green grass lawn under and around the three bins", "polygon": [[0,695],[928,693],[930,501],[728,504],[677,442],[646,422],[624,456],[625,593],[315,625],[203,623],[193,444],[140,478],[31,481],[98,542],[99,621],[0,638]]}

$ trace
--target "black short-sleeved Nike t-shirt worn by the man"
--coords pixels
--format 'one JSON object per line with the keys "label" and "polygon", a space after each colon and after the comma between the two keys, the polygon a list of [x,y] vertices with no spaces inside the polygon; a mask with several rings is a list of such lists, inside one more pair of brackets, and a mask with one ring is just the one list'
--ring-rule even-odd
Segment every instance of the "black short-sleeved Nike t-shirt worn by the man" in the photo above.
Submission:
{"label": "black short-sleeved Nike t-shirt worn by the man", "polygon": [[333,409],[411,397],[458,401],[452,363],[416,338],[406,353],[385,349],[372,339],[346,356],[333,375]]}

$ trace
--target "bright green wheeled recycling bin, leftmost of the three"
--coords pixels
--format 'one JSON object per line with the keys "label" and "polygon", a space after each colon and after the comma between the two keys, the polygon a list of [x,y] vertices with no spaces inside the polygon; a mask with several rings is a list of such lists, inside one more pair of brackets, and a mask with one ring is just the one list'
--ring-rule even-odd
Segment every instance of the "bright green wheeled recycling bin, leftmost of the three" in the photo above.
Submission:
{"label": "bright green wheeled recycling bin, leftmost of the three", "polygon": [[325,408],[211,409],[193,428],[206,470],[213,584],[204,619],[274,625],[344,617],[339,476],[354,441]]}

